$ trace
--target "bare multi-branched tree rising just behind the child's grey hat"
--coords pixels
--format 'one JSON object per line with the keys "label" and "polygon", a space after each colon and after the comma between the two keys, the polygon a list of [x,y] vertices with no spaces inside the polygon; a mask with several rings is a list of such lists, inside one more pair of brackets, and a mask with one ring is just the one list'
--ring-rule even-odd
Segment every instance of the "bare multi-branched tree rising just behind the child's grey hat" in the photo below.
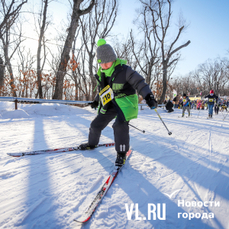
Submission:
{"label": "bare multi-branched tree rising just behind the child's grey hat", "polygon": [[[96,95],[94,88],[97,85],[96,79],[94,77],[95,70],[97,69],[97,62],[95,62],[95,50],[96,43],[99,38],[106,38],[112,27],[114,26],[117,11],[118,11],[118,1],[117,0],[104,0],[98,1],[92,11],[88,15],[85,15],[80,19],[81,26],[81,37],[83,49],[81,51],[86,51],[86,61],[80,62],[84,63],[84,76],[89,76],[92,95],[88,95],[92,99]],[[79,68],[81,65],[79,65]],[[82,68],[81,68],[82,70]]]}

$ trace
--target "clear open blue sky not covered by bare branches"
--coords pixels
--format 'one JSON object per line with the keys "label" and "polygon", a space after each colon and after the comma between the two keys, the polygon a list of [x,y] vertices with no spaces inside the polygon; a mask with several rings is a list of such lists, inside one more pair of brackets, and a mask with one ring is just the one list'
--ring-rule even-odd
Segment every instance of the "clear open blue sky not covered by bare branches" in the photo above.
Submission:
{"label": "clear open blue sky not covered by bare branches", "polygon": [[[134,28],[132,21],[138,6],[138,0],[120,1],[118,31],[127,33]],[[191,40],[191,44],[181,50],[174,76],[184,76],[208,59],[229,57],[229,0],[175,0],[172,11],[175,23],[182,13],[189,25],[180,42]]]}

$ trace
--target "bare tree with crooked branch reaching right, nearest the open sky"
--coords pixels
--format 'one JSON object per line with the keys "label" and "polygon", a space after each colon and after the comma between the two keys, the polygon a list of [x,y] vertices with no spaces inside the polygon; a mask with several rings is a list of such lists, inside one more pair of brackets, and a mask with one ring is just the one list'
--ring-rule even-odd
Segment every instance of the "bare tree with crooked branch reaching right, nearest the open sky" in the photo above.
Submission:
{"label": "bare tree with crooked branch reaching right, nearest the open sky", "polygon": [[174,41],[167,45],[166,38],[168,29],[170,28],[171,15],[172,15],[172,0],[139,0],[151,13],[152,17],[152,30],[160,44],[161,59],[162,59],[162,71],[163,71],[163,91],[159,99],[159,103],[162,103],[165,99],[168,82],[168,69],[171,68],[178,60],[178,53],[182,48],[188,46],[190,41],[175,48],[175,44],[180,38],[185,26],[179,27],[178,33],[174,38]]}

